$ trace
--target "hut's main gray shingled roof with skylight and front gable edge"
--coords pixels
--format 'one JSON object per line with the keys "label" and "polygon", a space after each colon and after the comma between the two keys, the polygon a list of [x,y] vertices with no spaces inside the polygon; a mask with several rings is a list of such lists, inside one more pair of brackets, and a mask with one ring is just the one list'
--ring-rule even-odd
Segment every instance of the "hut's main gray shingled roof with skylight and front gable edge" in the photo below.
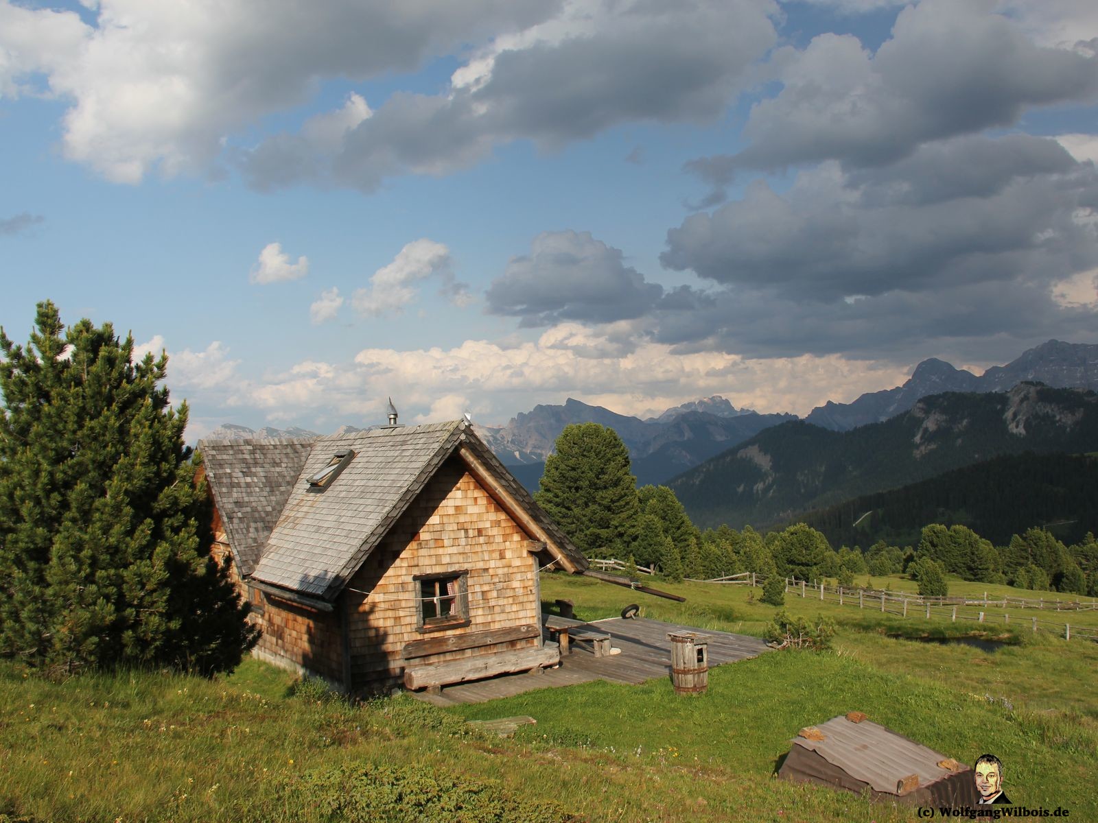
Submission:
{"label": "hut's main gray shingled roof with skylight and front gable edge", "polygon": [[[258,446],[269,441],[232,442]],[[553,554],[563,555],[575,570],[586,568],[580,551],[464,420],[384,427],[299,442],[307,443],[309,454],[288,483],[281,514],[273,528],[267,529],[261,559],[249,570],[257,582],[334,599],[442,462],[463,449],[550,538],[547,548]],[[355,452],[355,458],[339,476],[323,492],[311,491],[305,478],[347,449]],[[255,465],[250,458],[246,462]],[[224,473],[224,465],[219,465]],[[211,473],[209,465],[206,471]],[[235,476],[235,472],[231,474]],[[228,520],[235,512],[221,508],[214,477],[211,483],[222,518]],[[255,528],[249,533],[260,530]]]}

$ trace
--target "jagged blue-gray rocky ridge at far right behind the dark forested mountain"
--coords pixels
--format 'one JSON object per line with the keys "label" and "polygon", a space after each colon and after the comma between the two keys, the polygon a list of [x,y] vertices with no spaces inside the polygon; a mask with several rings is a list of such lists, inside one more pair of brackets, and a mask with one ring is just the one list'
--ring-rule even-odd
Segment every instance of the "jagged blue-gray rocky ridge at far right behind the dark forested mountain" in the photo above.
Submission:
{"label": "jagged blue-gray rocky ridge at far right behind the dark forested mountain", "polygon": [[978,377],[930,358],[915,368],[904,385],[863,394],[852,403],[828,401],[809,412],[805,420],[832,431],[849,431],[903,414],[932,394],[1005,392],[1022,381],[1038,381],[1055,388],[1098,388],[1098,346],[1049,340],[1006,365],[991,367]]}

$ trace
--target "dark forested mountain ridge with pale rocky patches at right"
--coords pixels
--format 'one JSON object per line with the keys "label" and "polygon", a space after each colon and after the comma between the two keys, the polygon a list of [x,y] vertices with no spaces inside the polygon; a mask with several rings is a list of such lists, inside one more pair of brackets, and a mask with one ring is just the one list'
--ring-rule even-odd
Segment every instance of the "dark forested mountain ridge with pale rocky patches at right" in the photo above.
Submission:
{"label": "dark forested mountain ridge with pale rocky patches at right", "polygon": [[1000,454],[1098,450],[1098,394],[1021,383],[1006,393],[923,397],[839,432],[786,422],[668,485],[698,526],[766,526]]}

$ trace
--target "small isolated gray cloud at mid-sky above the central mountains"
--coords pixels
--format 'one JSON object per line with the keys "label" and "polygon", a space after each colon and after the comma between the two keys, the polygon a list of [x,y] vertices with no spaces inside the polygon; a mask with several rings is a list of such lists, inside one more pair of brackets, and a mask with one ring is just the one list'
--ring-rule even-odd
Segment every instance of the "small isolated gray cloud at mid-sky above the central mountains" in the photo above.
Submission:
{"label": "small isolated gray cloud at mid-sky above the central mountains", "polygon": [[488,311],[519,317],[523,326],[612,323],[640,317],[662,296],[661,285],[645,282],[620,250],[589,232],[546,232],[489,288]]}

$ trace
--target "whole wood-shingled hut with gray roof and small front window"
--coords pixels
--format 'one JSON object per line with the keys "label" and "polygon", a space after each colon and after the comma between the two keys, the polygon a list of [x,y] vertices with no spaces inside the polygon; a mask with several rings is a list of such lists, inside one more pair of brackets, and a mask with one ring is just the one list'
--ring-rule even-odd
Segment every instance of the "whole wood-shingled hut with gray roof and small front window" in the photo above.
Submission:
{"label": "whole wood-shingled hut with gray roof and small front window", "polygon": [[558,662],[538,570],[586,561],[466,420],[199,448],[257,656],[348,692]]}

